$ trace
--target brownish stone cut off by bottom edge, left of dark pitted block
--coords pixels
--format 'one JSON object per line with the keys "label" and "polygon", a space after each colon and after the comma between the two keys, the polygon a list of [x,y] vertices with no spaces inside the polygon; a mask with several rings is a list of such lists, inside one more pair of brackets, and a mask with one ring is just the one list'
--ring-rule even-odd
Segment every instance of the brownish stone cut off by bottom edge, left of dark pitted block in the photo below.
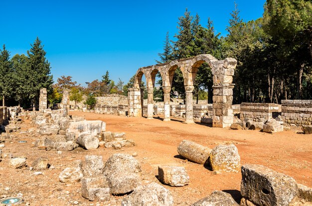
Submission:
{"label": "brownish stone cut off by bottom edge, left of dark pitted block", "polygon": [[221,191],[213,191],[210,196],[197,201],[191,206],[239,206],[232,196]]}

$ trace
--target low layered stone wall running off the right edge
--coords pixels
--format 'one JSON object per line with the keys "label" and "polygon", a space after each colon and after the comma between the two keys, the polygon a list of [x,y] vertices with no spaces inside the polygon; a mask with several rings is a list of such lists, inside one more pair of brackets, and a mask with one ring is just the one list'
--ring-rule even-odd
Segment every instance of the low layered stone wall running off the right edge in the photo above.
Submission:
{"label": "low layered stone wall running off the right edge", "polygon": [[312,100],[282,100],[282,119],[285,123],[312,124]]}

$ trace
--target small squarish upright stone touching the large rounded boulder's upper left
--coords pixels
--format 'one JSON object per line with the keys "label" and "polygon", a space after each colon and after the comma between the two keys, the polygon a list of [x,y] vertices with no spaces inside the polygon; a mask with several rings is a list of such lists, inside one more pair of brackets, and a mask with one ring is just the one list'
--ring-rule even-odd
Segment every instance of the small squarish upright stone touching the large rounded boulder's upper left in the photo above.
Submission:
{"label": "small squarish upright stone touching the large rounded boulder's upper left", "polygon": [[85,177],[98,176],[103,174],[103,157],[86,155],[83,174]]}

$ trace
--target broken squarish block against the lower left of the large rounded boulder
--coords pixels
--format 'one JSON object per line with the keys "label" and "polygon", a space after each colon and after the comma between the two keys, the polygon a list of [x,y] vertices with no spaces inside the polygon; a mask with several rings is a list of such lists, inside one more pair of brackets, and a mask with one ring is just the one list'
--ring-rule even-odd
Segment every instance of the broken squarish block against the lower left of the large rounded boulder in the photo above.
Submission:
{"label": "broken squarish block against the lower left of the large rounded boulder", "polygon": [[93,177],[83,177],[80,180],[82,197],[89,199],[89,196],[94,196],[94,190],[99,188],[107,188],[108,184],[103,175]]}

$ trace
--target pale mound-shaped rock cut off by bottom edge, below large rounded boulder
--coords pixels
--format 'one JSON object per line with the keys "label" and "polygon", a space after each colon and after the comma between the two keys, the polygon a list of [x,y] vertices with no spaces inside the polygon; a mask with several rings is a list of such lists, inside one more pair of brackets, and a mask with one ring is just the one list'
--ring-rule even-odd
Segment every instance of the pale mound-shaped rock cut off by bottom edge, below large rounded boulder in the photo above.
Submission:
{"label": "pale mound-shaped rock cut off by bottom edge, below large rounded boulder", "polygon": [[139,186],[135,191],[124,198],[122,206],[173,206],[173,197],[164,187],[150,183]]}

